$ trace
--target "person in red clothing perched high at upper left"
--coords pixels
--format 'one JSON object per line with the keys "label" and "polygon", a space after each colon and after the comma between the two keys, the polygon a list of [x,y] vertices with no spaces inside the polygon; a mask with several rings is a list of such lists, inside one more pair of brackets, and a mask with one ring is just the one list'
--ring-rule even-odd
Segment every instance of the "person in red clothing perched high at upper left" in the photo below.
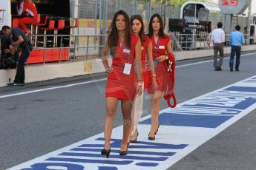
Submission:
{"label": "person in red clothing perched high at upper left", "polygon": [[36,23],[37,9],[32,0],[19,0],[17,3],[17,13],[19,18],[19,27],[25,34],[29,35],[31,32],[27,29],[26,24]]}

